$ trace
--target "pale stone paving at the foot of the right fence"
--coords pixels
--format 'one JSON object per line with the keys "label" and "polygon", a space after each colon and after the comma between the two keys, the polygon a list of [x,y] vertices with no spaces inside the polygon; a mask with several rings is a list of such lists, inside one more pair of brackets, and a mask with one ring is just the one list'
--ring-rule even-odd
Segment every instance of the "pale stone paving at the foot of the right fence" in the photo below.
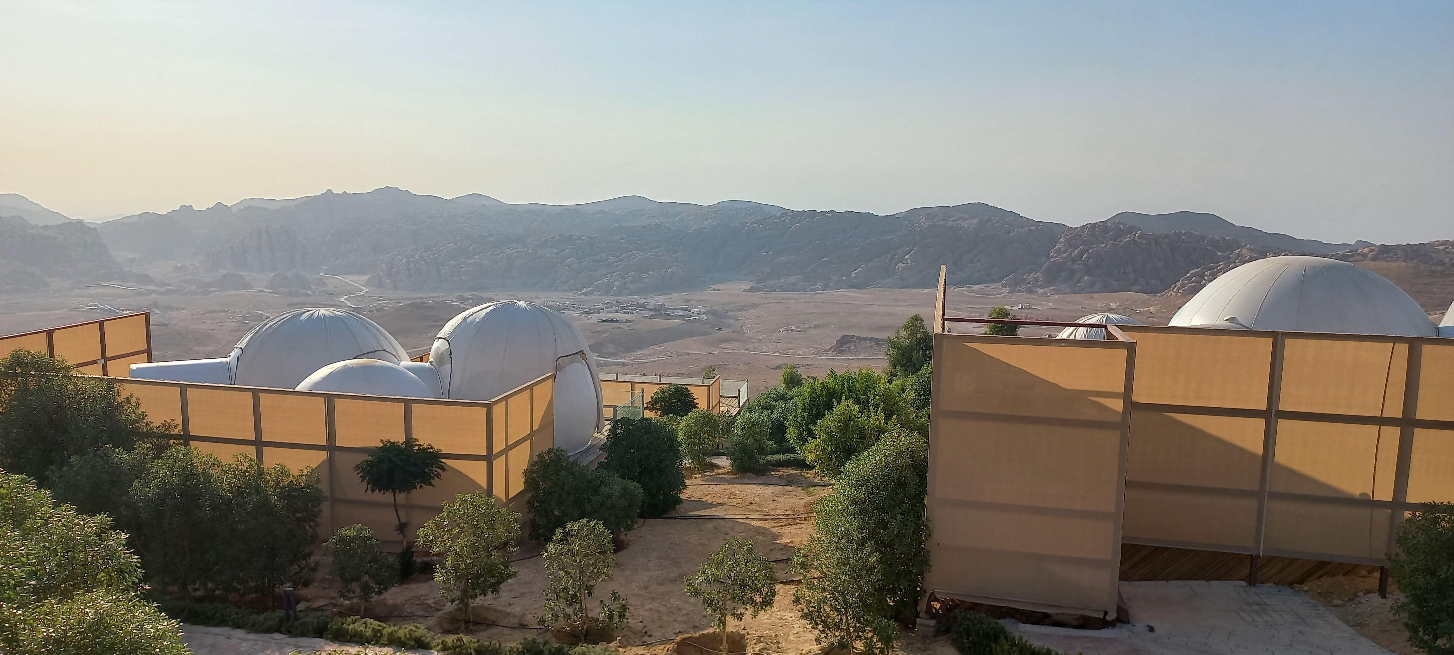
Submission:
{"label": "pale stone paving at the foot of the right fence", "polygon": [[1015,625],[1040,646],[1085,655],[1390,655],[1301,591],[1242,582],[1121,582],[1131,625]]}

